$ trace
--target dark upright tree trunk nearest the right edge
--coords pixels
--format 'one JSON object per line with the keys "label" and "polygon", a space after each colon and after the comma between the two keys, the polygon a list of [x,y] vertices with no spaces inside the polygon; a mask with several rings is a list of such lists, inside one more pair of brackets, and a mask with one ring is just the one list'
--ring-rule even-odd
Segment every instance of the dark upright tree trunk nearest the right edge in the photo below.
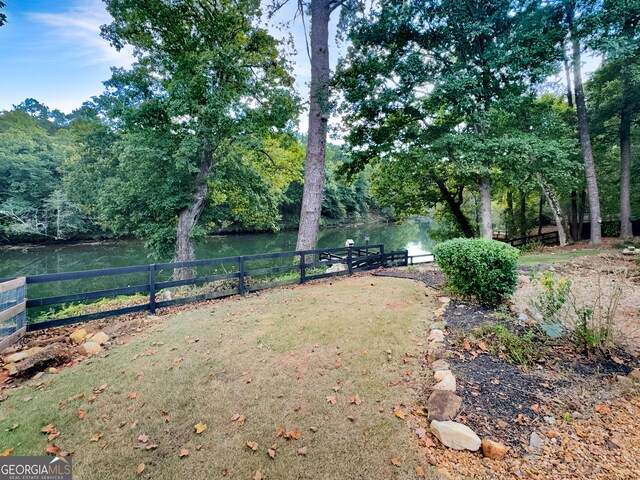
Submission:
{"label": "dark upright tree trunk nearest the right edge", "polygon": [[631,88],[628,75],[622,75],[622,108],[620,109],[620,238],[632,238],[631,225]]}

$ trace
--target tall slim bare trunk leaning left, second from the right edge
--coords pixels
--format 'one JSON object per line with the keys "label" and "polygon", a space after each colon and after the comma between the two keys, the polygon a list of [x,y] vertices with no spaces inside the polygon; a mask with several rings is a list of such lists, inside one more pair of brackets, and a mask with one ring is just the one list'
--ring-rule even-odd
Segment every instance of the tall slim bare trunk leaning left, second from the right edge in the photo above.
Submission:
{"label": "tall slim bare trunk leaning left, second from the right edge", "polygon": [[571,35],[573,46],[573,83],[576,100],[576,110],[578,113],[578,125],[580,126],[580,145],[582,146],[582,156],[584,158],[584,172],[587,181],[587,192],[589,194],[589,220],[591,222],[592,245],[602,243],[602,218],[600,216],[600,193],[598,192],[598,180],[596,178],[596,166],[593,161],[593,150],[591,148],[591,135],[589,134],[589,120],[587,117],[587,104],[582,87],[580,41],[573,34]]}

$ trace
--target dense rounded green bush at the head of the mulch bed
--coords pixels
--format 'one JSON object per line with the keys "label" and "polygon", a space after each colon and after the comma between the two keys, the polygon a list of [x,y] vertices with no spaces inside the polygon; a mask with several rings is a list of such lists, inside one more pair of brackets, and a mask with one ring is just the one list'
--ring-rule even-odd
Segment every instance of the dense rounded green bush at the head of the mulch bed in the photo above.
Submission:
{"label": "dense rounded green bush at the head of the mulch bed", "polygon": [[506,243],[456,238],[437,245],[434,255],[455,291],[483,303],[500,303],[516,289],[519,252]]}

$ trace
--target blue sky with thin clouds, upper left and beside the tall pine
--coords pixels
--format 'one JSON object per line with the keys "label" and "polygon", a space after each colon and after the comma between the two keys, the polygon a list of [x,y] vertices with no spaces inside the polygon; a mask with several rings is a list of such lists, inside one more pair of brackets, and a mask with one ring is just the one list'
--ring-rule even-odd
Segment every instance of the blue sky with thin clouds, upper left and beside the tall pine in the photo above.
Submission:
{"label": "blue sky with thin clouds, upper left and beside the tall pine", "polygon": [[[110,22],[102,0],[4,0],[8,23],[0,28],[0,110],[9,110],[25,98],[35,98],[65,113],[102,93],[102,82],[111,67],[128,67],[131,50],[121,52],[100,37],[100,25]],[[290,0],[274,18],[280,38],[291,33],[296,87],[308,96],[309,58],[304,28],[295,20],[297,2]],[[337,15],[334,15],[337,17]],[[293,21],[292,21],[293,20]],[[308,19],[307,19],[308,20]],[[282,22],[291,21],[287,26]],[[307,21],[307,28],[309,27]],[[335,25],[330,38],[335,38]],[[335,66],[338,47],[332,42],[330,55]],[[305,115],[300,129],[306,132]]]}

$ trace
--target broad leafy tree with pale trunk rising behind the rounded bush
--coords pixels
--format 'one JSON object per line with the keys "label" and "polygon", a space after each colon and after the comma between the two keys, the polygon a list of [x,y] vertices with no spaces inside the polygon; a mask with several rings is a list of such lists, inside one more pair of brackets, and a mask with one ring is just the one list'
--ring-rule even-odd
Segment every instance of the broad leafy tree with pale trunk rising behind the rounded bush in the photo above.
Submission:
{"label": "broad leafy tree with pale trunk rising behind the rounded bush", "polygon": [[554,15],[536,1],[381,2],[353,29],[339,68],[354,164],[407,150],[449,162],[479,190],[491,238],[491,179],[504,149],[488,119],[557,69]]}

